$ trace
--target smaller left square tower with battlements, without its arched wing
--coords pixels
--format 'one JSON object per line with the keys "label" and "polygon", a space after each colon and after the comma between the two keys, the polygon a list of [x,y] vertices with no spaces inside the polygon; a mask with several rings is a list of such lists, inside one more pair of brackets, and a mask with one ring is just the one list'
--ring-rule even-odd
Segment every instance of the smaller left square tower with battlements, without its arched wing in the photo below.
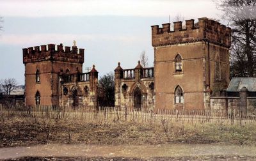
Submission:
{"label": "smaller left square tower with battlements, without its arched wing", "polygon": [[[57,49],[56,49],[57,48]],[[82,73],[84,49],[63,45],[41,45],[23,50],[25,65],[25,104],[59,105],[60,73]]]}

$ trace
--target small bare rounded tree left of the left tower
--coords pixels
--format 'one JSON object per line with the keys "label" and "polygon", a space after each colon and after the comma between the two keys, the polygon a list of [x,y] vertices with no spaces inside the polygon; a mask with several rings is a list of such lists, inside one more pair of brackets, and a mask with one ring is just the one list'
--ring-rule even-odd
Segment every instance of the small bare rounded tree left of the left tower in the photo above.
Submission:
{"label": "small bare rounded tree left of the left tower", "polygon": [[16,79],[1,79],[0,87],[2,91],[4,91],[5,95],[10,95],[11,92],[17,88],[17,81]]}

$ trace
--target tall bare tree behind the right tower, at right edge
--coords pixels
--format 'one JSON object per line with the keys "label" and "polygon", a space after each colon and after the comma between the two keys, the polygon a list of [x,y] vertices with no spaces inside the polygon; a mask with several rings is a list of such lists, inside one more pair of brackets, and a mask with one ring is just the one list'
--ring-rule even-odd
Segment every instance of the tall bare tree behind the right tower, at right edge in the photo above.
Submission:
{"label": "tall bare tree behind the right tower, at right edge", "polygon": [[256,0],[217,0],[232,27],[231,77],[253,77],[256,68]]}

